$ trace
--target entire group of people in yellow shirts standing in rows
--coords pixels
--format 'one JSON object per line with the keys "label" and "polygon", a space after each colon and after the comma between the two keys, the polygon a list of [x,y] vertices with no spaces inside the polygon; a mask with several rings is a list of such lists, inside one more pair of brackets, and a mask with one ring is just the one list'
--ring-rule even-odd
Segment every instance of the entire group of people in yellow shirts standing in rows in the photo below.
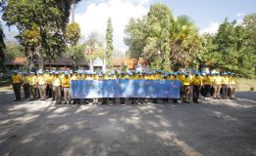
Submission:
{"label": "entire group of people in yellow shirts standing in rows", "polygon": [[[131,80],[179,80],[180,81],[180,100],[183,102],[189,102],[190,95],[192,95],[192,101],[198,102],[200,95],[207,98],[230,98],[234,99],[236,78],[235,74],[231,72],[203,72],[194,73],[189,72],[163,72],[147,71],[147,72],[121,72],[115,74],[110,72],[104,73],[88,73],[82,71],[39,71],[35,72],[15,72],[12,76],[14,93],[16,100],[21,100],[21,88],[23,87],[25,98],[35,100],[40,98],[46,100],[46,98],[52,98],[56,104],[76,104],[80,103],[81,99],[71,98],[71,81],[76,80],[110,80],[110,79],[131,79]],[[73,100],[73,102],[72,102]],[[157,98],[152,99],[154,103],[157,102]],[[168,98],[164,98],[163,101],[168,101]],[[84,99],[85,102],[92,101],[98,103],[99,98]],[[102,103],[109,101],[116,102],[115,98],[102,98]],[[147,102],[148,98],[131,98],[131,103]],[[179,99],[173,99],[175,103],[179,102]],[[125,103],[125,98],[120,99],[121,103]]]}

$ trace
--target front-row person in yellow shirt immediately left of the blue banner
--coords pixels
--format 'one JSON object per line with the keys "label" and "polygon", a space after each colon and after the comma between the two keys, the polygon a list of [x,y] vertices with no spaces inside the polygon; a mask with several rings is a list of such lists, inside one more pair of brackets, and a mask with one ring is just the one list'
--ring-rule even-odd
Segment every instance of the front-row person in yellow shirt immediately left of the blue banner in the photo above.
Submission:
{"label": "front-row person in yellow shirt immediately left of the blue banner", "polygon": [[71,104],[71,77],[69,76],[69,72],[64,73],[64,78],[62,78],[62,89],[64,92],[64,104]]}

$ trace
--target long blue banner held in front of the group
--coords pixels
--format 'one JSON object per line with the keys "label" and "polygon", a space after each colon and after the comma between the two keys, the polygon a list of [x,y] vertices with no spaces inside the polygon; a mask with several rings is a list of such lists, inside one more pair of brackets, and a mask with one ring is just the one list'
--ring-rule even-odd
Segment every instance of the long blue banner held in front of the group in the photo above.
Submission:
{"label": "long blue banner held in front of the group", "polygon": [[171,80],[77,80],[72,98],[179,98],[180,81]]}

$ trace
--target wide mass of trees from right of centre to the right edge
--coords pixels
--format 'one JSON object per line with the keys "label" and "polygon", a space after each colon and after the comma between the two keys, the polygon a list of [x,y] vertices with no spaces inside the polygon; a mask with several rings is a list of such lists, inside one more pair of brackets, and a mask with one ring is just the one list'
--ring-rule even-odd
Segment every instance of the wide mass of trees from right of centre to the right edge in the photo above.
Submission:
{"label": "wide mass of trees from right of centre to the right edge", "polygon": [[208,64],[242,76],[254,74],[256,14],[246,16],[242,23],[225,20],[216,34],[200,35],[192,20],[175,18],[168,6],[158,3],[146,16],[130,19],[125,32],[128,56],[149,59],[152,69],[170,71]]}

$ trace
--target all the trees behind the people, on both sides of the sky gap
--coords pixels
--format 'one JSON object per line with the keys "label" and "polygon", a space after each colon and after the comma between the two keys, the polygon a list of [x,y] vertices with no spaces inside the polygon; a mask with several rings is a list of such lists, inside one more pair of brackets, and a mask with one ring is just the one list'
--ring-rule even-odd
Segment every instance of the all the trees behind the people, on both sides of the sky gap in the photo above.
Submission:
{"label": "all the trees behind the people, on both sides of the sky gap", "polygon": [[[17,40],[23,47],[6,44],[1,28],[1,66],[4,66],[5,54],[12,57],[9,51],[21,56],[20,52],[24,51],[31,70],[38,59],[51,63],[63,54],[71,56],[74,64],[80,59],[106,59],[111,69],[114,55],[111,19],[107,20],[105,40],[92,32],[84,42],[80,42],[79,25],[74,20],[69,23],[70,12],[75,10],[79,1],[2,1],[2,19],[8,26],[16,25],[19,30]],[[241,23],[226,19],[216,34],[200,35],[197,26],[188,17],[174,17],[168,6],[157,3],[150,7],[146,16],[130,19],[125,33],[128,56],[149,59],[152,69],[170,71],[207,64],[211,68],[247,77],[254,74],[256,14],[245,16]]]}

